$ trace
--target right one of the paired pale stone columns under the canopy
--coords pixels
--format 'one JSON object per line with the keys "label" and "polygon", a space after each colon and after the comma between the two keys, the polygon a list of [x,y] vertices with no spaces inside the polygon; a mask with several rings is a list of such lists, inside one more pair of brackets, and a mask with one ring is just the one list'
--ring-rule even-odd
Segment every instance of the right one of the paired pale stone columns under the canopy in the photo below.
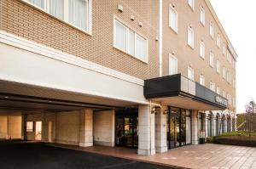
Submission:
{"label": "right one of the paired pale stone columns under the canopy", "polygon": [[156,110],[155,115],[155,151],[157,153],[163,153],[167,151],[166,140],[166,112],[167,106],[162,106]]}

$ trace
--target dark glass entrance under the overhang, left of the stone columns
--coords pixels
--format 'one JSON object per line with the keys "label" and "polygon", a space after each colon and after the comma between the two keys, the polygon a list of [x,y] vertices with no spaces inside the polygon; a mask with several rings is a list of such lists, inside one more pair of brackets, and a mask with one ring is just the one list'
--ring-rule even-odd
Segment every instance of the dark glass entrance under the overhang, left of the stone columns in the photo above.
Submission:
{"label": "dark glass entrance under the overhang, left of the stone columns", "polygon": [[138,147],[138,112],[137,110],[119,110],[115,115],[115,145]]}

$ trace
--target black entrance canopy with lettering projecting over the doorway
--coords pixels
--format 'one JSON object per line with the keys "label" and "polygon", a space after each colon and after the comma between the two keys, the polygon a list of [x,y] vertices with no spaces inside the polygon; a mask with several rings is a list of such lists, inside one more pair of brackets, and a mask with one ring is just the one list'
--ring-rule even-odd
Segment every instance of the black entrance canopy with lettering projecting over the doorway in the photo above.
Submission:
{"label": "black entrance canopy with lettering projecting over the doorway", "polygon": [[145,81],[144,96],[163,105],[189,110],[225,110],[228,100],[181,74]]}

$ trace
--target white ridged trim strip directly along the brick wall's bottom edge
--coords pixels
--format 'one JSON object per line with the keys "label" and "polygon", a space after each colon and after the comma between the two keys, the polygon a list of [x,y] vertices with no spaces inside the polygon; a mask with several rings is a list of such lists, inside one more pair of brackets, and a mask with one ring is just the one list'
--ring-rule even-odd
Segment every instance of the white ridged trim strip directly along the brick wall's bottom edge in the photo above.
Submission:
{"label": "white ridged trim strip directly along the brick wall's bottom edge", "polygon": [[90,62],[86,59],[82,59],[82,58],[74,56],[72,54],[67,54],[67,53],[61,52],[54,48],[46,47],[42,44],[38,44],[37,42],[32,42],[32,41],[26,40],[25,38],[17,37],[17,36],[10,34],[6,31],[0,31],[0,42],[3,42],[10,46],[14,46],[16,48],[24,49],[24,50],[32,52],[32,53],[41,54],[45,57],[48,57],[51,59],[56,59],[56,60],[65,62],[70,65],[76,65],[81,68],[84,68],[87,70],[93,70],[93,71],[102,73],[107,76],[113,76],[115,78],[124,80],[126,82],[132,82],[132,83],[135,83],[135,84],[141,85],[141,86],[144,85],[144,81],[137,77],[127,75],[125,73],[110,69],[110,68],[102,66],[102,65],[98,65],[94,62]]}

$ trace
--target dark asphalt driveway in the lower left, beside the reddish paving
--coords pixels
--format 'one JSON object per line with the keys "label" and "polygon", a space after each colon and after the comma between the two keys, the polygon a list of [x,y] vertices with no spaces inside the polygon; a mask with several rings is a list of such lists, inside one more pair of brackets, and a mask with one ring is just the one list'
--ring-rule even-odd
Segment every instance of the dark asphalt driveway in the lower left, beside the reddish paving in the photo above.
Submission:
{"label": "dark asphalt driveway in the lower left, beside the reddish paving", "polygon": [[1,169],[167,169],[139,161],[38,143],[0,143]]}

